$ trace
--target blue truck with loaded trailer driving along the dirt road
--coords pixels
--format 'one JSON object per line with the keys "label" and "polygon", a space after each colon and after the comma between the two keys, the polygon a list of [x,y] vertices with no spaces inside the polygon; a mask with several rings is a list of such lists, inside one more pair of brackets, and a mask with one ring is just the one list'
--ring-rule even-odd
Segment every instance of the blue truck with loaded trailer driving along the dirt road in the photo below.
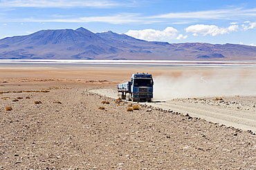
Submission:
{"label": "blue truck with loaded trailer driving along the dirt road", "polygon": [[154,81],[152,74],[132,74],[131,81],[118,85],[118,96],[128,101],[147,101],[153,98]]}

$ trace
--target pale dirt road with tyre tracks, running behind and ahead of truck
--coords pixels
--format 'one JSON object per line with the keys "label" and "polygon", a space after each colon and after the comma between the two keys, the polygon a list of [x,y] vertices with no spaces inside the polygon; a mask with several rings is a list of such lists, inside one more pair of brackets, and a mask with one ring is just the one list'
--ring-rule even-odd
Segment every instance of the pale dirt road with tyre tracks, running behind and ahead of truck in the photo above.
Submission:
{"label": "pale dirt road with tyre tracks, running behind and ahead of truck", "polygon": [[[117,98],[117,92],[114,89],[94,89],[91,92]],[[237,103],[234,98],[226,98],[228,103],[239,104],[239,109],[234,107],[226,107],[226,105],[210,105],[208,103],[199,103],[197,101],[189,102],[189,100],[167,100],[165,102],[154,101],[153,103],[145,103],[153,108],[158,107],[161,109],[172,110],[181,114],[188,114],[192,117],[203,118],[212,123],[219,123],[230,127],[236,127],[242,130],[251,130],[256,132],[256,111],[255,105],[245,105],[244,103]],[[223,103],[223,100],[219,101]],[[231,104],[230,104],[231,105]],[[223,107],[225,106],[225,107]],[[249,109],[250,108],[250,109]]]}

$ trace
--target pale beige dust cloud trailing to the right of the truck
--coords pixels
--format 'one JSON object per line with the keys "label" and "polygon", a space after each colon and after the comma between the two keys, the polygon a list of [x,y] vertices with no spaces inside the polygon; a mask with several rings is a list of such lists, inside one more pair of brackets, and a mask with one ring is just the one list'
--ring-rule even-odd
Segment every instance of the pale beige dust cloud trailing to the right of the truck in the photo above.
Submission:
{"label": "pale beige dust cloud trailing to the right of the truck", "polygon": [[256,96],[255,72],[183,73],[154,77],[154,100],[208,96]]}

